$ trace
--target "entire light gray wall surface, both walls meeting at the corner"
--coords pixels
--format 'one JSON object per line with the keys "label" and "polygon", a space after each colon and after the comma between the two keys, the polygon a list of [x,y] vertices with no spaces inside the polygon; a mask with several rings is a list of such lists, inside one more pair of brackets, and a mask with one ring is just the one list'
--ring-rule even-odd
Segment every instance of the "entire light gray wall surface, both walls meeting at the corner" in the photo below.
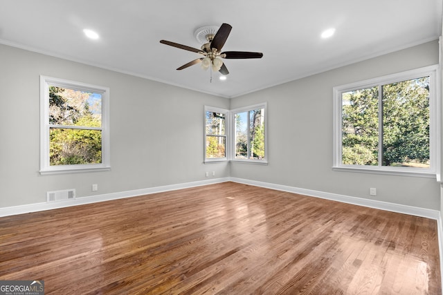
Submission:
{"label": "entire light gray wall surface, both walls meeting at the corner", "polygon": [[[332,171],[332,87],[438,63],[431,42],[234,99],[0,45],[0,208],[232,176],[440,210],[435,179]],[[111,88],[111,171],[39,175],[39,75]],[[269,165],[203,164],[203,108],[268,102]],[[170,144],[174,142],[174,144]],[[97,183],[99,190],[91,191]],[[377,196],[369,196],[369,188]]]}

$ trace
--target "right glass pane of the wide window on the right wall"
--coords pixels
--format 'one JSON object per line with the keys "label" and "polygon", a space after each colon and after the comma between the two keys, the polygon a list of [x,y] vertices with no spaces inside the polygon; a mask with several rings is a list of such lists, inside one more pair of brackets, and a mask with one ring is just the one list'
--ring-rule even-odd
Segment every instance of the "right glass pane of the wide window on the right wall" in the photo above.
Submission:
{"label": "right glass pane of the wide window on the right wall", "polygon": [[429,77],[383,85],[383,166],[429,168]]}

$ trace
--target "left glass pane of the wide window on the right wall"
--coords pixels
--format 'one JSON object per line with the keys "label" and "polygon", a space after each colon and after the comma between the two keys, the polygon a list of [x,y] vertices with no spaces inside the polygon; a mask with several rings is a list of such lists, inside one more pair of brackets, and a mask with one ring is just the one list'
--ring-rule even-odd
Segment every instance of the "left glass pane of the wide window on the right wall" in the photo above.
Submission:
{"label": "left glass pane of the wide window on the right wall", "polygon": [[378,165],[378,86],[342,93],[343,164]]}

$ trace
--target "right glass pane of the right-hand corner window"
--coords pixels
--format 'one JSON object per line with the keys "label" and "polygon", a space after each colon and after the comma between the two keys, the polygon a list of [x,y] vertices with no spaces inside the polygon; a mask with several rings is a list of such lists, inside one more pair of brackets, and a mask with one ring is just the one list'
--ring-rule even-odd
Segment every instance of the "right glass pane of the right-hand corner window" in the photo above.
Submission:
{"label": "right glass pane of the right-hand corner window", "polygon": [[250,159],[264,158],[264,108],[249,111]]}

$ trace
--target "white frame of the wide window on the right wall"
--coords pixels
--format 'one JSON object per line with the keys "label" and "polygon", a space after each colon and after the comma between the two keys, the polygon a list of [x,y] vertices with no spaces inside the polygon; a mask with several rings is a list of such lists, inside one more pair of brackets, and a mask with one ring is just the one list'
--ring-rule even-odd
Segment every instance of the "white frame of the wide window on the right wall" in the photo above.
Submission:
{"label": "white frame of the wide window on the right wall", "polygon": [[[426,66],[424,68],[417,68],[415,70],[408,70],[401,73],[368,79],[361,82],[355,82],[333,88],[333,164],[334,171],[353,171],[366,173],[379,173],[389,175],[408,175],[426,178],[436,178],[438,171],[440,171],[440,122],[441,122],[441,104],[440,99],[440,84],[439,66]],[[363,88],[370,88],[379,85],[392,84],[408,79],[416,79],[419,77],[429,76],[429,111],[430,111],[430,130],[429,130],[429,168],[415,168],[415,167],[393,167],[393,166],[369,166],[369,165],[349,165],[342,164],[342,93],[354,91]],[[381,95],[381,94],[380,94]],[[379,98],[380,99],[380,98]],[[379,108],[381,112],[381,108]],[[380,116],[381,114],[379,114]],[[382,135],[380,135],[382,136]]]}

